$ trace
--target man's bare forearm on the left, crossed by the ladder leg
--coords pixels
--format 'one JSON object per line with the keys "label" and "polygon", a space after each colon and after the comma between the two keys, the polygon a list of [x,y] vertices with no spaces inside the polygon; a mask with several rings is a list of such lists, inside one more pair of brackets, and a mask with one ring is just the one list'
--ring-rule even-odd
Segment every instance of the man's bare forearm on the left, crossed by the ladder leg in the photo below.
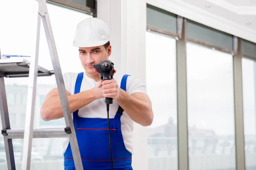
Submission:
{"label": "man's bare forearm on the left, crossed by the ladder leg", "polygon": [[[92,90],[82,91],[78,94],[67,96],[71,113],[93,102],[96,97]],[[41,107],[41,116],[45,121],[64,117],[60,96],[51,96]]]}

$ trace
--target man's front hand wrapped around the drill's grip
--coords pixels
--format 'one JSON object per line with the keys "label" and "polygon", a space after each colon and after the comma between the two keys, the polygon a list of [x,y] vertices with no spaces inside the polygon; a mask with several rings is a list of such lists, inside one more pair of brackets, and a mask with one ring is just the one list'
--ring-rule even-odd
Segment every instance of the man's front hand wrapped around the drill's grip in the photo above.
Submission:
{"label": "man's front hand wrapped around the drill's grip", "polygon": [[104,97],[117,99],[120,96],[120,88],[115,79],[104,80],[101,88]]}

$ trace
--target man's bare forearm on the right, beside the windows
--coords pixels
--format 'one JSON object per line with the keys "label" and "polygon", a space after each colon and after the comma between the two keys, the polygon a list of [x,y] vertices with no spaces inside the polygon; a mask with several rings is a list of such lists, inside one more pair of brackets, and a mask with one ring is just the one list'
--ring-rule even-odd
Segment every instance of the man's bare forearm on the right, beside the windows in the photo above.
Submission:
{"label": "man's bare forearm on the right, beside the windows", "polygon": [[136,99],[122,89],[120,89],[120,96],[116,101],[134,122],[143,126],[151,125],[153,121],[153,111],[147,102]]}

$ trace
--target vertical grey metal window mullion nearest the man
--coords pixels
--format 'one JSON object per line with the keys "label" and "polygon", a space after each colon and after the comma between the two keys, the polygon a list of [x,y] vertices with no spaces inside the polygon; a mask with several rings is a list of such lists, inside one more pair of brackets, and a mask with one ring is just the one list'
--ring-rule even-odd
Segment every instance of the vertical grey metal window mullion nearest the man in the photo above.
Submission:
{"label": "vertical grey metal window mullion nearest the man", "polygon": [[177,143],[178,170],[189,170],[188,115],[187,115],[187,72],[186,72],[186,19],[177,18],[177,29],[182,27],[176,42],[177,71]]}

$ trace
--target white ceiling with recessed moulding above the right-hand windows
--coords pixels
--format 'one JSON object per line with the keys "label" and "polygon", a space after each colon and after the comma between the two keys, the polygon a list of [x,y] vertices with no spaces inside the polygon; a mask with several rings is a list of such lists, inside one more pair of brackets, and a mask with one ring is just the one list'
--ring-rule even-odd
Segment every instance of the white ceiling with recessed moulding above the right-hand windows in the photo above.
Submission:
{"label": "white ceiling with recessed moulding above the right-hand windows", "polygon": [[146,0],[180,16],[256,42],[256,0]]}

